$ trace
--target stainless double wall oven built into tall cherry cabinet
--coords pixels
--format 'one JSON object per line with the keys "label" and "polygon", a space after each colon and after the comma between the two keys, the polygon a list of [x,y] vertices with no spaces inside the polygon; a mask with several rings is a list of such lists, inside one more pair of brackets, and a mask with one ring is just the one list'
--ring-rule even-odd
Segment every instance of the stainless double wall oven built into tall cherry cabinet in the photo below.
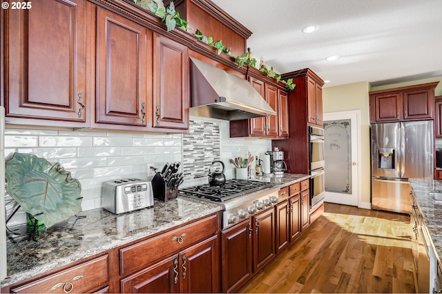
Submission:
{"label": "stainless double wall oven built into tall cherry cabinet", "polygon": [[309,127],[310,206],[314,210],[325,197],[324,129]]}

